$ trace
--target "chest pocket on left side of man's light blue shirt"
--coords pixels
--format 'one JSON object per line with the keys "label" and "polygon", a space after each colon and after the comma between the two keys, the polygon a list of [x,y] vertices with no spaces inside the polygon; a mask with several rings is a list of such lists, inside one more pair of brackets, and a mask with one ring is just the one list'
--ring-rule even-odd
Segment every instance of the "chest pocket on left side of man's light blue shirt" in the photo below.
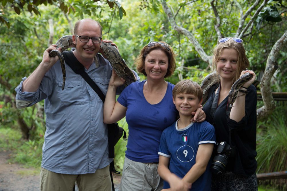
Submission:
{"label": "chest pocket on left side of man's light blue shirt", "polygon": [[84,84],[81,80],[66,81],[64,90],[62,90],[63,82],[59,81],[59,97],[64,105],[82,105],[85,101],[83,98]]}

